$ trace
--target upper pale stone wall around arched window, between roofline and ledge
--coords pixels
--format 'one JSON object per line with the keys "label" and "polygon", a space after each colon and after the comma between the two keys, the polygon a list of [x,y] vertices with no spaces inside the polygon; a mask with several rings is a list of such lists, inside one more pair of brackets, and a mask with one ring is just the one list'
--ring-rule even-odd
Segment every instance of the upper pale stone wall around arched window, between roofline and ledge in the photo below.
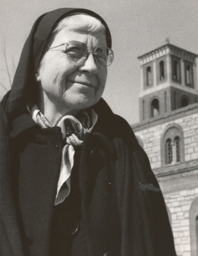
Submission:
{"label": "upper pale stone wall around arched window, between roofline and ledge", "polygon": [[[188,107],[187,107],[188,108]],[[185,108],[184,108],[185,109]],[[184,135],[185,161],[198,158],[198,110],[197,113],[175,120],[165,121],[162,124],[154,125],[150,128],[143,128],[135,132],[143,141],[143,149],[147,152],[150,165],[153,169],[162,166],[165,160],[162,156],[162,134],[170,124],[179,124]]]}

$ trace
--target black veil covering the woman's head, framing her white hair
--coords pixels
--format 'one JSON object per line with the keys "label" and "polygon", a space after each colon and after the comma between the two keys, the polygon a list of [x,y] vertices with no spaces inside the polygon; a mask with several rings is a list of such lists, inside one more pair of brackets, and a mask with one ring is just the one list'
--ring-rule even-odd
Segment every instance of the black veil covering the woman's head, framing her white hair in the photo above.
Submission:
{"label": "black veil covering the woman's head, framing her white hair", "polygon": [[8,112],[11,117],[21,113],[21,109],[24,109],[32,99],[36,98],[38,86],[36,86],[35,72],[44,53],[46,42],[48,42],[48,38],[51,36],[51,32],[53,32],[57,22],[72,13],[86,13],[99,19],[101,23],[105,25],[107,46],[111,48],[112,39],[109,27],[97,13],[76,8],[62,8],[44,13],[32,26],[13,78],[8,105]]}

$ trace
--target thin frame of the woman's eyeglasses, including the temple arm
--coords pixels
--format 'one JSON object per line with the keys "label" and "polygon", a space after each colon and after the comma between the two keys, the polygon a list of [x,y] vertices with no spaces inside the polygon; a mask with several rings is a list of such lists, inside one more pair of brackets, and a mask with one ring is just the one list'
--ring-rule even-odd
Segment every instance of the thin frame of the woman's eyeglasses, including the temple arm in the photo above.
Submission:
{"label": "thin frame of the woman's eyeglasses, including the temple arm", "polygon": [[[66,55],[67,55],[67,46],[70,45],[70,44],[69,44],[70,42],[78,42],[78,43],[80,43],[80,44],[84,44],[84,43],[82,43],[82,42],[80,42],[80,41],[70,40],[70,41],[68,41],[67,43],[59,44],[59,45],[56,45],[56,46],[54,46],[54,47],[48,48],[48,50],[51,50],[51,49],[53,49],[53,48],[57,48],[57,47],[62,46],[62,45],[66,45],[65,53],[66,53]],[[86,46],[86,44],[84,44],[84,45]],[[108,47],[97,47],[97,48],[101,48],[101,49],[102,49],[102,48],[105,48],[105,49],[108,49],[108,50],[110,51],[110,54],[109,54],[109,55],[112,55],[112,61],[113,61],[113,59],[114,59],[114,52],[112,51],[111,48],[108,48]],[[97,58],[96,58],[96,56],[94,55],[94,52],[97,50],[97,48],[95,48],[93,51],[91,51],[89,48],[86,47],[86,52],[85,52],[85,53],[86,53],[86,56],[83,56],[82,59],[80,59],[80,60],[78,60],[78,61],[75,61],[74,59],[71,59],[71,58],[70,58],[70,55],[67,55],[67,57],[68,57],[70,60],[74,61],[75,63],[80,63],[82,60],[88,59],[89,55],[92,53],[92,54],[93,54],[93,58],[95,59],[96,63],[97,63],[99,66],[101,66],[101,67],[109,67],[109,66],[112,64],[112,62],[111,62],[109,65],[101,65],[100,63],[97,62]],[[96,54],[96,55],[97,55],[97,54]],[[108,56],[109,56],[109,55],[108,55]]]}

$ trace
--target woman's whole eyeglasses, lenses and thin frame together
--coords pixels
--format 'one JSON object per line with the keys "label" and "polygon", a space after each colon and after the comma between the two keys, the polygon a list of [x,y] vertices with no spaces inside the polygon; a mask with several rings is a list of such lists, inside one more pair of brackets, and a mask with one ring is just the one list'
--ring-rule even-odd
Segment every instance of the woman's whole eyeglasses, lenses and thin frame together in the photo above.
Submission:
{"label": "woman's whole eyeglasses, lenses and thin frame together", "polygon": [[57,48],[61,45],[66,45],[64,52],[67,54],[67,57],[69,59],[73,60],[76,63],[80,63],[82,60],[87,59],[89,54],[92,53],[97,64],[108,67],[109,65],[111,65],[114,57],[114,53],[110,48],[97,47],[93,51],[90,51],[89,49],[87,49],[86,44],[78,41],[69,41],[65,44],[59,44],[55,47],[49,48],[49,50]]}

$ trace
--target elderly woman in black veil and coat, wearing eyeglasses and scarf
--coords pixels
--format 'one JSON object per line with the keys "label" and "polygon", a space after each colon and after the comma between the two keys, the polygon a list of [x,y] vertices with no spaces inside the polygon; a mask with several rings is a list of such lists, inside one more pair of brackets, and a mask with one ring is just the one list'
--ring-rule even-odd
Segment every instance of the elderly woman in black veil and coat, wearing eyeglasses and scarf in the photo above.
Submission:
{"label": "elderly woman in black veil and coat, wearing eyeglasses and scarf", "polygon": [[111,46],[89,10],[33,25],[1,104],[1,255],[176,255],[147,155],[101,98]]}

